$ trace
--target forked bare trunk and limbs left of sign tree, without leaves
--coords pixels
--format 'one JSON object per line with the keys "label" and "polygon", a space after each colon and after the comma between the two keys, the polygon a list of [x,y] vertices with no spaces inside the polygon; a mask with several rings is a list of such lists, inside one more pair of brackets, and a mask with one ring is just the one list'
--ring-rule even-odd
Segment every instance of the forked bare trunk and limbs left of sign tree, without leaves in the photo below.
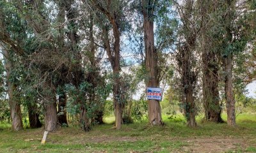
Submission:
{"label": "forked bare trunk and limbs left of sign tree, without leaves", "polygon": [[120,95],[120,18],[116,13],[109,13],[109,10],[102,8],[99,3],[95,4],[95,7],[108,17],[108,20],[113,27],[113,35],[115,38],[113,42],[113,49],[110,46],[108,27],[102,27],[102,35],[104,48],[106,49],[109,62],[113,69],[113,106],[115,109],[115,128],[120,129],[122,125],[123,109],[125,106],[122,96]]}

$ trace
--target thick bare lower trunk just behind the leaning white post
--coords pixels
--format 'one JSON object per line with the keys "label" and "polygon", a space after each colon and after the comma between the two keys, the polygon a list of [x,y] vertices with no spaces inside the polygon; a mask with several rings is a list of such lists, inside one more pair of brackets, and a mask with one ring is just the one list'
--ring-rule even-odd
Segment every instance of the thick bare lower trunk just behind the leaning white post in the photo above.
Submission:
{"label": "thick bare lower trunk just behind the leaning white post", "polygon": [[45,130],[54,131],[58,128],[57,106],[55,95],[47,95],[44,99]]}

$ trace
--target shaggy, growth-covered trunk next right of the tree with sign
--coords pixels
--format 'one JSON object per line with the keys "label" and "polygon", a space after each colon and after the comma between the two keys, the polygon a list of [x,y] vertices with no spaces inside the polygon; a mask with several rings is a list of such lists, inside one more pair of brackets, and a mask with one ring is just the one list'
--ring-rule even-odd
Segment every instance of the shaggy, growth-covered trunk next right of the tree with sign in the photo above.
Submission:
{"label": "shaggy, growth-covered trunk next right of the tree with sign", "polygon": [[195,47],[196,47],[196,38],[197,38],[197,29],[192,29],[189,27],[194,27],[195,20],[191,17],[193,11],[194,1],[187,0],[184,4],[183,13],[180,14],[183,22],[182,34],[184,35],[184,43],[180,43],[178,47],[178,52],[176,55],[179,73],[180,73],[180,82],[181,82],[181,101],[184,109],[184,115],[186,117],[188,126],[191,128],[196,127],[196,106],[195,98],[193,94],[195,93],[195,86],[197,81],[198,71],[195,69],[196,58],[194,57]]}

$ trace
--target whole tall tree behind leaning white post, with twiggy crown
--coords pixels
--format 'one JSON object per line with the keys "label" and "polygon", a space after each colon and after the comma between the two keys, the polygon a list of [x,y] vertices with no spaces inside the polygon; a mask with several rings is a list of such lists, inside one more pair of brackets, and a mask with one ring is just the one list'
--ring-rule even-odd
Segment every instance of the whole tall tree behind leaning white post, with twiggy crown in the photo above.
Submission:
{"label": "whole tall tree behind leaning white post, with twiggy crown", "polygon": [[[53,77],[57,77],[54,74],[54,64],[59,65],[61,62],[57,62],[55,55],[58,54],[58,47],[56,47],[56,39],[49,33],[51,29],[51,17],[49,14],[44,13],[47,7],[43,1],[27,1],[21,3],[17,1],[17,8],[22,13],[24,19],[33,28],[33,34],[35,34],[36,41],[34,43],[39,44],[35,48],[33,59],[30,59],[33,69],[42,80],[38,79],[37,82],[42,84],[36,85],[42,92],[42,101],[45,108],[45,130],[54,131],[58,127],[57,107],[56,107],[56,82]],[[36,54],[35,54],[36,52]],[[51,53],[49,53],[51,52]],[[48,54],[47,54],[48,53]],[[54,62],[56,61],[56,62]],[[38,69],[38,70],[36,70]],[[49,75],[51,73],[51,75]],[[40,86],[40,87],[39,87]]]}

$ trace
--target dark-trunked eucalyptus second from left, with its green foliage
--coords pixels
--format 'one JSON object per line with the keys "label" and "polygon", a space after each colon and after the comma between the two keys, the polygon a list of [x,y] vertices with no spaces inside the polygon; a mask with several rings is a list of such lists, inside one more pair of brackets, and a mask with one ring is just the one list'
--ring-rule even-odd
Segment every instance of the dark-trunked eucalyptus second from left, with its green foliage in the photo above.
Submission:
{"label": "dark-trunked eucalyptus second from left, with its green foliage", "polygon": [[[29,61],[28,55],[33,53],[33,49],[35,48],[31,43],[33,42],[32,30],[29,28],[26,20],[20,15],[14,2],[1,1],[1,6],[4,8],[4,12],[2,12],[3,15],[8,18],[4,20],[6,28],[3,28],[3,40],[1,40],[4,46],[8,47],[6,48],[6,55],[10,57],[10,59],[6,61],[6,66],[10,67],[11,65],[11,67],[14,66],[13,68],[15,68],[12,68],[12,79],[7,79],[6,84],[15,84],[14,93],[16,94],[13,94],[13,96],[15,96],[16,101],[19,101],[19,104],[28,108],[30,128],[39,128],[42,124],[39,120],[36,105],[36,103],[38,103],[38,97],[35,92],[31,92],[33,91],[33,87],[31,88],[31,86],[29,86],[29,82],[33,80],[33,77],[30,75],[31,71],[27,63],[27,61]],[[10,62],[12,62],[12,64]],[[19,115],[21,113],[15,114]]]}

